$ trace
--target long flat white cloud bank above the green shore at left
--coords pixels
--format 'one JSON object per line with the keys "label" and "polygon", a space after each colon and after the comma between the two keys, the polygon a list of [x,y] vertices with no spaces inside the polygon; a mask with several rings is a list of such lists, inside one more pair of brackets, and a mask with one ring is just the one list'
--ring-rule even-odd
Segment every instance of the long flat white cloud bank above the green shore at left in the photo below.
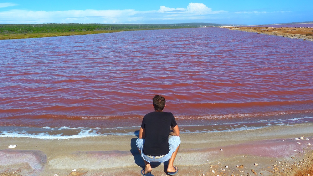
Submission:
{"label": "long flat white cloud bank above the green shore at left", "polygon": [[[135,10],[67,10],[0,12],[0,23],[125,23]],[[14,21],[14,22],[13,22]]]}

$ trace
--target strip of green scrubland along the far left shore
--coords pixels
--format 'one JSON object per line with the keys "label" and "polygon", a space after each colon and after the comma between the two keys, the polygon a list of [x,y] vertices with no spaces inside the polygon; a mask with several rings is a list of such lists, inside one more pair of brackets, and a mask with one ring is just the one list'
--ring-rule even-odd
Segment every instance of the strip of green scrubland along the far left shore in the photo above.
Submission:
{"label": "strip of green scrubland along the far left shore", "polygon": [[26,39],[68,35],[111,33],[129,30],[221,26],[214,23],[180,24],[0,24],[0,39]]}

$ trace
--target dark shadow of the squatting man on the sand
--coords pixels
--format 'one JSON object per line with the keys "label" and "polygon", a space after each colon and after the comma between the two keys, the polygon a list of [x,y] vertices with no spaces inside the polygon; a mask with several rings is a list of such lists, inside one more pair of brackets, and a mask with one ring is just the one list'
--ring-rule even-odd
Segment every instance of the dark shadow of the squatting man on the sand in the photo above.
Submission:
{"label": "dark shadow of the squatting man on the sand", "polygon": [[[134,156],[134,159],[135,159],[135,163],[140,166],[142,169],[145,169],[146,168],[146,165],[145,165],[145,162],[143,161],[143,159],[141,158],[141,155],[139,154],[139,151],[138,151],[138,148],[136,146],[136,140],[138,139],[139,137],[139,130],[136,130],[135,132],[135,135],[136,135],[136,138],[132,138],[131,139],[131,154]],[[165,162],[168,164],[168,161]],[[164,163],[164,165],[165,165]],[[161,163],[159,162],[151,162],[150,165],[152,168],[156,168],[160,165]],[[166,169],[165,169],[166,171]]]}

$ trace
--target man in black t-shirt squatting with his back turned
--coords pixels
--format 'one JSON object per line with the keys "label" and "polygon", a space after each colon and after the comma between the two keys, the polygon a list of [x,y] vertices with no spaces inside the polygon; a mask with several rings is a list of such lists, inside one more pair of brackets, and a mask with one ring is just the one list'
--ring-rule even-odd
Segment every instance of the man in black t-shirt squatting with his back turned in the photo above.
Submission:
{"label": "man in black t-shirt squatting with his back turned", "polygon": [[155,111],[143,117],[139,138],[136,141],[146,165],[146,168],[141,170],[141,174],[152,176],[150,162],[163,163],[168,160],[167,174],[174,175],[178,172],[178,168],[173,165],[180,145],[178,125],[171,112],[163,112],[165,107],[163,96],[156,95],[152,100]]}

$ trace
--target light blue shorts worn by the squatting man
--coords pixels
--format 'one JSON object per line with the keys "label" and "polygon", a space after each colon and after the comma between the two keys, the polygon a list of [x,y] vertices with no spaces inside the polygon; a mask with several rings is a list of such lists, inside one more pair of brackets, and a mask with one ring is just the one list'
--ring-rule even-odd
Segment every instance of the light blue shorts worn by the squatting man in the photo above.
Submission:
{"label": "light blue shorts worn by the squatting man", "polygon": [[137,148],[141,151],[141,157],[146,160],[147,162],[166,162],[167,160],[169,160],[172,157],[172,153],[174,153],[176,151],[176,148],[179,146],[180,144],[180,137],[179,136],[171,136],[170,138],[168,138],[168,148],[170,149],[170,151],[162,158],[158,158],[158,157],[148,157],[147,155],[143,154],[142,149],[143,149],[143,144],[145,143],[145,139],[137,139],[136,141],[136,146]]}

